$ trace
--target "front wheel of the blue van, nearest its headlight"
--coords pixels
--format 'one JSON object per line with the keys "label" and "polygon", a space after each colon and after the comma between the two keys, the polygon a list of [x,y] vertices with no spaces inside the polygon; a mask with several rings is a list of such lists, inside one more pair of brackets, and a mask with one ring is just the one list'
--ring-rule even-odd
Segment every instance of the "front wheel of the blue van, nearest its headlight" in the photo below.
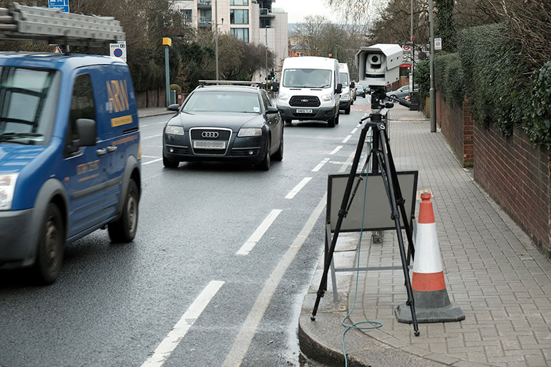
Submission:
{"label": "front wheel of the blue van, nearest its headlight", "polygon": [[52,284],[61,272],[65,244],[64,228],[61,211],[57,205],[50,202],[42,221],[37,259],[34,263],[34,273],[41,284]]}

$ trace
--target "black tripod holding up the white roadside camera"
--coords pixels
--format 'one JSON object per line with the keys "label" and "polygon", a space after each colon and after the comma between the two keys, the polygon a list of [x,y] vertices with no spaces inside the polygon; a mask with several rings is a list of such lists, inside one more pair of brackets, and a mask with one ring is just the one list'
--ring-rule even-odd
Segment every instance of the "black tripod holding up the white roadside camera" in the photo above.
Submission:
{"label": "black tripod holding up the white roadside camera", "polygon": [[[318,297],[315,300],[314,308],[312,311],[312,320],[315,320],[315,314],[318,312],[318,306],[320,305],[320,300],[324,296],[324,290],[326,289],[327,283],[327,274],[329,273],[329,267],[331,266],[331,260],[333,259],[333,253],[335,251],[335,245],[337,244],[337,239],[339,237],[340,229],[342,226],[342,220],[346,218],[346,214],[350,208],[351,202],[354,199],[356,189],[354,190],[353,196],[351,198],[351,191],[354,185],[354,179],[356,176],[356,171],[358,164],[360,163],[360,156],[362,156],[362,149],[366,140],[367,133],[369,129],[373,132],[373,145],[371,151],[368,154],[366,165],[370,161],[370,158],[373,158],[372,170],[373,172],[378,172],[379,167],[381,167],[380,174],[384,182],[384,187],[386,189],[386,194],[388,196],[388,202],[391,205],[391,218],[395,222],[396,233],[398,236],[398,244],[400,250],[400,257],[402,258],[402,268],[404,269],[404,280],[406,284],[406,291],[408,293],[408,300],[406,304],[410,306],[411,317],[413,319],[413,330],[415,331],[415,336],[419,336],[419,328],[417,326],[417,316],[415,315],[415,304],[413,301],[413,291],[411,290],[411,282],[409,277],[408,270],[408,258],[406,258],[406,250],[404,248],[404,239],[402,238],[402,227],[400,226],[400,216],[399,211],[402,213],[402,220],[404,222],[404,230],[406,231],[406,236],[408,238],[408,252],[411,256],[415,256],[415,249],[413,248],[413,235],[409,226],[409,218],[406,213],[406,208],[404,206],[404,198],[402,197],[402,191],[399,187],[398,177],[396,173],[396,167],[394,165],[394,160],[391,153],[391,145],[386,136],[386,125],[382,118],[381,109],[382,107],[393,107],[393,103],[386,103],[382,105],[384,99],[387,98],[382,87],[375,87],[375,90],[371,93],[371,110],[372,113],[369,116],[366,116],[360,120],[362,123],[364,120],[369,120],[360,133],[360,140],[357,143],[354,160],[352,162],[352,167],[348,181],[346,182],[346,189],[344,191],[344,196],[342,198],[342,204],[340,206],[337,224],[335,226],[335,231],[333,238],[331,240],[331,247],[329,248],[329,253],[326,253],[324,271],[322,275],[322,280],[320,282],[320,288],[318,289]],[[394,98],[393,98],[394,99]],[[409,107],[407,101],[402,101],[394,99],[401,105],[406,105]],[[361,175],[360,175],[360,180]],[[359,182],[358,182],[359,183]],[[357,185],[356,185],[357,187]],[[409,254],[408,254],[409,255]]]}

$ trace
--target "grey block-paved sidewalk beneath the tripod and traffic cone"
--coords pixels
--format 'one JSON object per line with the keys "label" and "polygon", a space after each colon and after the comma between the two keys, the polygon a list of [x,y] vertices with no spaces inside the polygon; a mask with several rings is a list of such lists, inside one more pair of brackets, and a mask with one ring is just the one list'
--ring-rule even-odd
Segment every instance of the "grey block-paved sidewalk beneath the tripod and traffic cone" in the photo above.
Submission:
{"label": "grey block-paved sidewalk beneath the tripod and traffic cone", "polygon": [[[354,366],[548,366],[551,364],[551,262],[463,169],[441,133],[419,112],[391,109],[391,147],[397,169],[418,169],[417,189],[430,189],[443,258],[446,289],[466,315],[461,322],[397,322],[394,308],[406,301],[399,271],[360,272],[357,302],[347,322],[377,320],[382,328],[346,333]],[[418,201],[419,202],[419,201]],[[418,203],[417,202],[417,203]],[[418,213],[419,205],[416,206]],[[357,240],[348,233],[337,244],[335,266],[357,264]],[[306,355],[344,365],[340,320],[353,306],[356,273],[337,272],[339,302],[331,281],[315,322],[309,319],[322,273],[304,299],[300,346]],[[384,232],[380,244],[364,233],[360,266],[401,265],[397,237]]]}

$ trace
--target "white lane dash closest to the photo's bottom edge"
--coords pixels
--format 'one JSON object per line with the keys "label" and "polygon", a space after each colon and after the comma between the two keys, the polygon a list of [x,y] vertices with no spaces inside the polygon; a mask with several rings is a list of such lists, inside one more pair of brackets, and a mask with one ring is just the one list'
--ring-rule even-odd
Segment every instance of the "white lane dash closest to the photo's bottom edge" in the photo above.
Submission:
{"label": "white lane dash closest to the photo's bottom edge", "polygon": [[213,280],[207,284],[205,289],[198,295],[194,303],[187,308],[180,321],[174,325],[174,328],[168,333],[167,337],[163,339],[163,342],[155,349],[153,355],[143,362],[142,367],[158,367],[165,363],[165,360],[169,357],[170,353],[178,346],[180,341],[186,335],[189,328],[193,326],[196,320],[205,310],[209,302],[213,299],[214,295],[220,290],[220,287],[224,282]]}

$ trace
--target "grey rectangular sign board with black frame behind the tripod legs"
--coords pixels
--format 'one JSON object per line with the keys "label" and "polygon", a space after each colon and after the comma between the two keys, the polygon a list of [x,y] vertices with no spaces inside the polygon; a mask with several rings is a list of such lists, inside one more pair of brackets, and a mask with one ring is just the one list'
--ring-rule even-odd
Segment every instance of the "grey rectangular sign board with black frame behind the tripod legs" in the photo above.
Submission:
{"label": "grey rectangular sign board with black frame behind the tripod legs", "polygon": [[[415,195],[417,193],[418,171],[397,171],[398,182],[405,203],[406,213],[410,213],[410,228],[413,225],[415,216]],[[356,174],[356,177],[360,174]],[[356,195],[352,201],[346,218],[342,220],[340,231],[359,232],[364,231],[382,231],[385,229],[396,229],[395,222],[391,218],[391,205],[388,202],[384,182],[380,174],[368,174],[367,180],[365,174],[362,174],[364,180],[357,187]],[[338,213],[346,190],[348,174],[329,175],[327,187],[327,214],[326,220],[331,224],[331,231],[335,230],[337,225]],[[367,181],[367,197],[364,210],[364,192]],[[354,187],[357,179],[354,180]],[[362,216],[364,222],[362,225]],[[404,228],[402,216],[400,224]],[[362,228],[363,227],[363,228]]]}

